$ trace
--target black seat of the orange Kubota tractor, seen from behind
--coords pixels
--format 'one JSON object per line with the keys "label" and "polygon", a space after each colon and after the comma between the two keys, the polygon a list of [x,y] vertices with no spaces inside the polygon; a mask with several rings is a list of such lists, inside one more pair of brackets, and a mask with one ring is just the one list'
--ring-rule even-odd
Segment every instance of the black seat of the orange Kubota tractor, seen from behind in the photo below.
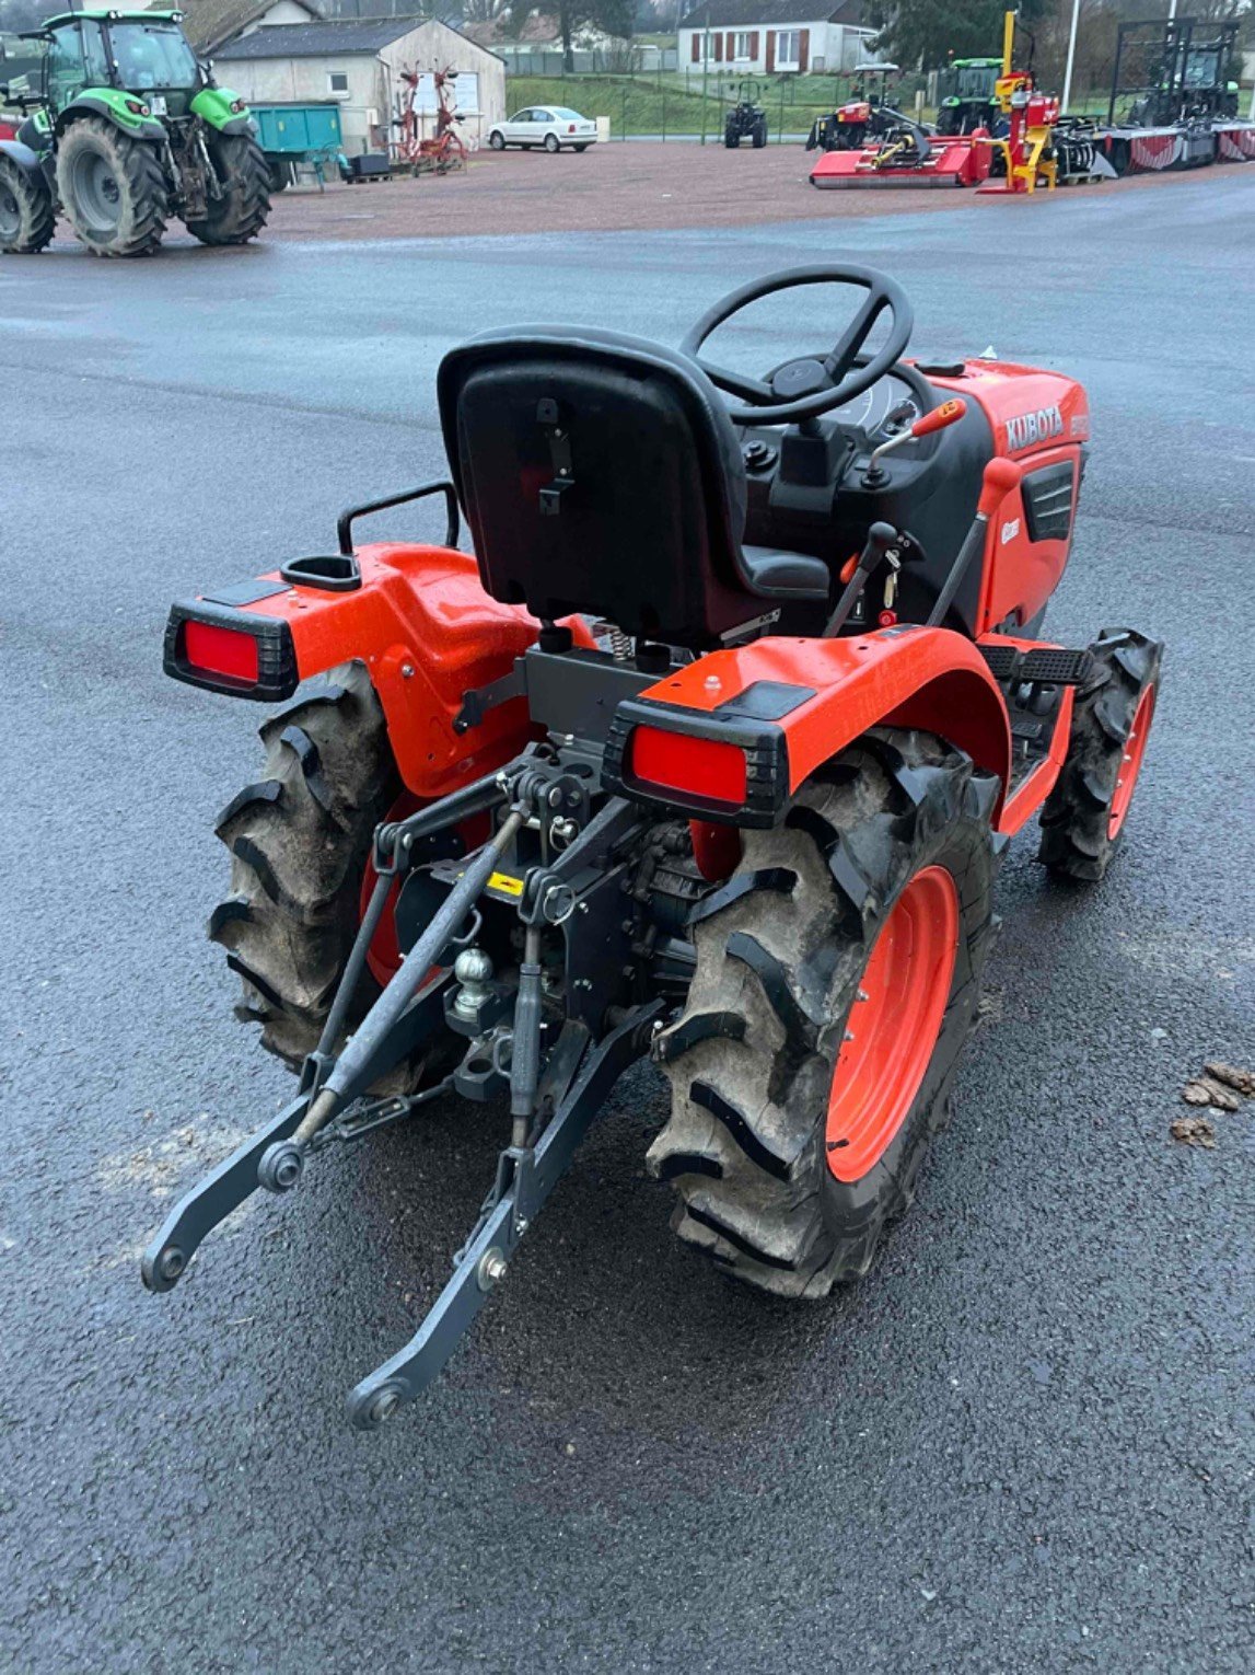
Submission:
{"label": "black seat of the orange Kubota tractor, seen from behind", "polygon": [[437,380],[484,588],[701,652],[773,603],[827,601],[805,553],[745,546],[741,449],[688,357],[589,327],[489,332]]}

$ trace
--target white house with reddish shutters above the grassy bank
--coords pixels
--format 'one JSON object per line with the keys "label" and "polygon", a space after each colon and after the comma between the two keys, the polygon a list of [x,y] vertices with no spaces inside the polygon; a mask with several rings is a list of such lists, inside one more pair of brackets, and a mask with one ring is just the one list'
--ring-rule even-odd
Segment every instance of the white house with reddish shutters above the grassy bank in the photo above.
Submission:
{"label": "white house with reddish shutters above the grassy bank", "polygon": [[701,0],[679,20],[679,69],[813,75],[852,70],[872,57],[875,30],[863,0]]}

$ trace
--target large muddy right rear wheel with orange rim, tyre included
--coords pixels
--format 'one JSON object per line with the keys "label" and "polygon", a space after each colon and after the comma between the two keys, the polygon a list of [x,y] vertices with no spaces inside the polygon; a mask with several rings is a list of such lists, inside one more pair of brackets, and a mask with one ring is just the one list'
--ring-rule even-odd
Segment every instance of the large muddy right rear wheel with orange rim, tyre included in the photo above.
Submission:
{"label": "large muddy right rear wheel with orange rim, tyre included", "polygon": [[910,1204],[994,936],[996,796],[930,734],[868,734],[703,903],[648,1161],[738,1280],[823,1296]]}

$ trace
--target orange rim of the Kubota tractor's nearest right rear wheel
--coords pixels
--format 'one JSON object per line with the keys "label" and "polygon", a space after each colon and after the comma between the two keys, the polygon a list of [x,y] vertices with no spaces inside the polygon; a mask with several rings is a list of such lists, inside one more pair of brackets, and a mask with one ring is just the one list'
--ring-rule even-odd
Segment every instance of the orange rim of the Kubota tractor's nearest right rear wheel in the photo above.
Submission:
{"label": "orange rim of the Kubota tractor's nearest right rear wheel", "polygon": [[917,873],[880,928],[845,1020],[828,1095],[838,1181],[872,1169],[915,1102],[940,1035],[959,950],[959,891],[944,866]]}

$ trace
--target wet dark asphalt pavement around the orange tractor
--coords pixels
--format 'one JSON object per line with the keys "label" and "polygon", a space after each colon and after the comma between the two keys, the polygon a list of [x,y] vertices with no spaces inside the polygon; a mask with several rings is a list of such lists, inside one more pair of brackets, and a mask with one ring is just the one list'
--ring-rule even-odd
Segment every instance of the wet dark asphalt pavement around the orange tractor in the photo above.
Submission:
{"label": "wet dark asphalt pavement around the orange tractor", "polygon": [[[1215,1151],[1168,1126],[1203,1057],[1255,1057],[1253,211],[1255,168],[848,224],[5,260],[0,1665],[1250,1667],[1255,1104]],[[1170,647],[1126,851],[1069,891],[1016,843],[957,1119],[863,1285],[790,1308],[681,1250],[641,1069],[443,1382],[351,1434],[502,1134],[448,1107],[328,1156],[141,1290],[176,1188],[289,1087],[202,933],[261,717],[162,678],[167,603],[437,474],[455,338],[676,342],[823,258],[905,281],[920,353],[1088,385],[1051,630]],[[815,347],[790,325],[746,363]]]}

